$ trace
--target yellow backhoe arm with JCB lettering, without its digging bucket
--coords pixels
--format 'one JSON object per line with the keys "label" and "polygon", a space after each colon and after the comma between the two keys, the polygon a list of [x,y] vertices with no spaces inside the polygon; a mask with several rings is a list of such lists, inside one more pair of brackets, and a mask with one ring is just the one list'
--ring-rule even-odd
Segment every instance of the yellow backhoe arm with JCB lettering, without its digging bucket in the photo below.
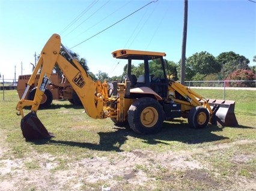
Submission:
{"label": "yellow backhoe arm with JCB lettering, without its digging bucket", "polygon": [[[67,54],[70,55],[67,49],[61,44],[61,38],[58,34],[53,34],[45,44],[43,50],[41,51],[41,56],[38,60],[37,66],[35,67],[31,78],[28,81],[28,86],[26,87],[22,99],[17,104],[16,109],[19,111],[18,114],[20,114],[23,118],[23,108],[26,106],[32,106],[31,112],[37,112],[47,83],[50,83],[49,79],[50,75],[52,74],[53,67],[55,64],[58,64],[59,68],[70,81],[73,89],[81,99],[82,105],[84,106],[88,116],[94,119],[105,118],[106,116],[103,112],[103,98],[106,98],[105,92],[107,92],[105,90],[105,86],[100,83],[100,86],[103,88],[100,89],[102,90],[101,92],[97,92],[97,89],[99,89],[97,88],[99,87],[99,83],[93,81],[91,77],[88,76],[85,69],[82,68],[81,64],[77,60],[73,59],[71,55],[70,57],[72,59],[72,63],[59,54],[61,46],[64,48]],[[40,77],[34,100],[29,101],[24,99],[28,93],[29,86],[34,83],[35,76],[39,72]],[[96,96],[96,93],[99,93],[101,96]]]}

